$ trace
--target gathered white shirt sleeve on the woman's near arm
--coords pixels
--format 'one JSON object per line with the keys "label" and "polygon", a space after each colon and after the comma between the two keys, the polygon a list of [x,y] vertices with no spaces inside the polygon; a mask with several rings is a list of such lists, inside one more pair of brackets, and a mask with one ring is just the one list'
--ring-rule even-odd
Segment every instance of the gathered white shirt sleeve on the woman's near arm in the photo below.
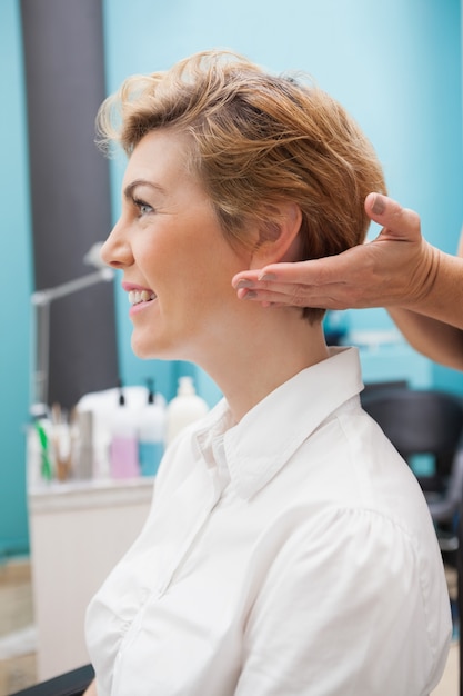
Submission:
{"label": "gathered white shirt sleeve on the woman's near arm", "polygon": [[435,549],[369,510],[293,529],[249,615],[235,696],[427,696],[451,628]]}

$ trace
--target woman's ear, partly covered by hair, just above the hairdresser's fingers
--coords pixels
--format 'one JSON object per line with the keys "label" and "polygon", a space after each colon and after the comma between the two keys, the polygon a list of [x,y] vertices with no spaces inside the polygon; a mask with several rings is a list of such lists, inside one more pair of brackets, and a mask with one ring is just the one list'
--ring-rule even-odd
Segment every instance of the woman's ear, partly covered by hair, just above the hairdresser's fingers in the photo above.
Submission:
{"label": "woman's ear, partly covered by hair, just above the hairdresser's fingers", "polygon": [[279,261],[300,261],[302,242],[300,207],[293,202],[272,206],[271,216],[260,225],[259,241],[251,255],[250,269]]}

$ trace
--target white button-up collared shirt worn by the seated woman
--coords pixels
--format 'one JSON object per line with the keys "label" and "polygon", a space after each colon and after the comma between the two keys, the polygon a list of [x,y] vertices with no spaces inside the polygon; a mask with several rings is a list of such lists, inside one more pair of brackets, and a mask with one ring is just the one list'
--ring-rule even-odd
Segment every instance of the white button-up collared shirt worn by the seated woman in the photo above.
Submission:
{"label": "white button-up collared shirt worn by the seated woman", "polygon": [[221,401],[180,435],[88,610],[99,696],[432,690],[451,636],[441,555],[361,389],[355,349],[334,350],[239,425]]}

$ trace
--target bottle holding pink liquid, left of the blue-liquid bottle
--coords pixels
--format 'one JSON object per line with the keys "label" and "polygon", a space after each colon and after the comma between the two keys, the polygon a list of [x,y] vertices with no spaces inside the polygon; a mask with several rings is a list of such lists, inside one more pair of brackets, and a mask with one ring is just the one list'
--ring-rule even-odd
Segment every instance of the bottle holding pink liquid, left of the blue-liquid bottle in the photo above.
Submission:
{"label": "bottle holding pink liquid, left of the blue-liquid bottle", "polygon": [[119,406],[112,422],[110,473],[113,478],[132,478],[140,475],[134,415],[125,405],[122,388],[119,390]]}

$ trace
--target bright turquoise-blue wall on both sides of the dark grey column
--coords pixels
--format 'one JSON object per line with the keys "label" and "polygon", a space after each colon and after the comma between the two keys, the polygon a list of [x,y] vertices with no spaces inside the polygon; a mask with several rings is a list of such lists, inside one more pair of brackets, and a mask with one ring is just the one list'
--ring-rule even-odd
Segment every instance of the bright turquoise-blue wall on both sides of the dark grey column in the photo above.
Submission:
{"label": "bright turquoise-blue wall on both sides of the dark grey column", "polygon": [[[420,211],[427,239],[456,249],[463,222],[460,0],[103,0],[108,91],[132,72],[170,67],[207,48],[240,51],[271,70],[310,72],[356,117],[385,168],[391,195]],[[0,556],[24,548],[24,438],[29,402],[29,295],[32,289],[27,138],[18,0],[0,2],[0,233],[6,282],[0,300]],[[113,217],[122,163],[112,167]],[[52,201],[50,202],[52,205]],[[372,230],[372,235],[375,230]],[[170,398],[183,364],[143,362],[130,349],[127,299],[117,288],[119,360],[127,384],[154,375]],[[348,312],[352,329],[389,329],[384,310]],[[364,359],[369,379],[413,374],[415,384],[452,386],[463,376],[407,347]],[[218,394],[203,374],[201,391]],[[8,400],[7,400],[8,399]]]}

